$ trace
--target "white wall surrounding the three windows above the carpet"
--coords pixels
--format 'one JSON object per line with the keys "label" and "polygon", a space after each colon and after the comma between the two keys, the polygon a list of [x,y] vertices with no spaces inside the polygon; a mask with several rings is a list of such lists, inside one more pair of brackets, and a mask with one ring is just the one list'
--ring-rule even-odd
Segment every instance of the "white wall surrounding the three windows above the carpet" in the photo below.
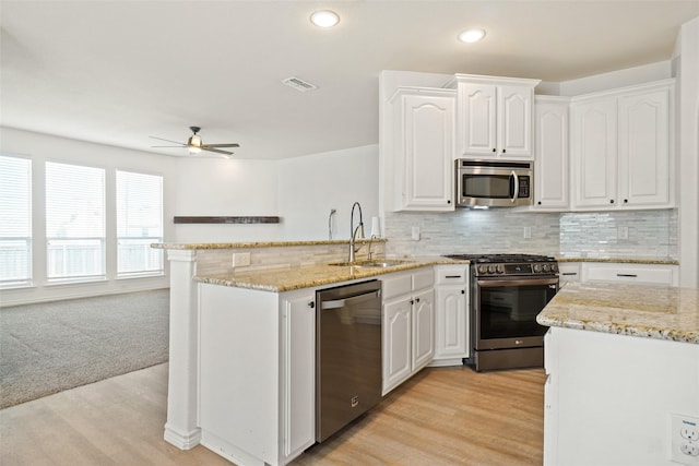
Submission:
{"label": "white wall surrounding the three windows above the carpet", "polygon": [[[28,156],[32,159],[32,202],[34,204],[32,218],[33,228],[33,275],[34,286],[1,291],[0,303],[36,302],[54,299],[76,298],[83,296],[106,295],[128,290],[154,289],[168,286],[167,277],[121,278],[117,279],[116,271],[116,217],[114,213],[115,169],[133,170],[163,177],[164,217],[173,216],[173,204],[176,189],[173,180],[176,178],[171,157],[144,152],[92,144],[82,141],[56,138],[28,131],[0,128],[0,151],[4,154]],[[79,285],[48,285],[46,283],[46,229],[44,218],[45,203],[45,163],[59,162],[78,164],[106,169],[107,188],[107,279]],[[173,238],[171,223],[164,224],[165,238]],[[167,262],[166,262],[167,267]]]}

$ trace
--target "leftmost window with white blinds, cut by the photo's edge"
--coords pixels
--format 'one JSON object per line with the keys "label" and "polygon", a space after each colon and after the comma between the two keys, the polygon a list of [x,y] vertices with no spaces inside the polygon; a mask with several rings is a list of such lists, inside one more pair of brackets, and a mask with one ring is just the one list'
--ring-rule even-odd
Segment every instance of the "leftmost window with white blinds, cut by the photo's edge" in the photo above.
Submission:
{"label": "leftmost window with white blinds, cut by the photo's edge", "polygon": [[32,279],[32,160],[0,156],[0,286]]}

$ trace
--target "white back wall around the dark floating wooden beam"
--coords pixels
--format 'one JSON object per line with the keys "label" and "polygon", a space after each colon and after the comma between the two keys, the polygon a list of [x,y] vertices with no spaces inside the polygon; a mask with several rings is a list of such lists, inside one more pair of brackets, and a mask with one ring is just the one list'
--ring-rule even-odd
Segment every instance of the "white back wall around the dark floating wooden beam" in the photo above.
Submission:
{"label": "white back wall around the dark floating wooden beam", "polygon": [[[176,216],[279,215],[274,160],[187,157],[177,158],[176,167]],[[178,224],[171,242],[274,241],[280,231],[280,224]]]}

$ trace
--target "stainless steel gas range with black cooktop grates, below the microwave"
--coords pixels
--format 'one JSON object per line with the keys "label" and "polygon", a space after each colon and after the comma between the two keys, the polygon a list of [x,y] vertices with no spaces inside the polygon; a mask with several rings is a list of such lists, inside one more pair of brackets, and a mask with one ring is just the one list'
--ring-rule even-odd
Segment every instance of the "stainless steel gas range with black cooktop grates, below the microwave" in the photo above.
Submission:
{"label": "stainless steel gas range with black cooktop grates, below the microwave", "polygon": [[543,367],[547,327],[536,315],[558,291],[555,258],[452,254],[471,261],[471,357],[476,371]]}

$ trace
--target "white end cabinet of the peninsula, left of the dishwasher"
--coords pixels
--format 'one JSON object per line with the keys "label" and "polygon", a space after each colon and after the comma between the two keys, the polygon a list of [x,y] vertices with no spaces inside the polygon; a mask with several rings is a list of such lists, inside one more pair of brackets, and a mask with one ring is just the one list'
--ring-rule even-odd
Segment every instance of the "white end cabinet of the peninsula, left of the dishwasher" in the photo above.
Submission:
{"label": "white end cabinet of the peninsula, left of the dishwasher", "polygon": [[315,442],[315,289],[199,285],[201,443],[284,465]]}

